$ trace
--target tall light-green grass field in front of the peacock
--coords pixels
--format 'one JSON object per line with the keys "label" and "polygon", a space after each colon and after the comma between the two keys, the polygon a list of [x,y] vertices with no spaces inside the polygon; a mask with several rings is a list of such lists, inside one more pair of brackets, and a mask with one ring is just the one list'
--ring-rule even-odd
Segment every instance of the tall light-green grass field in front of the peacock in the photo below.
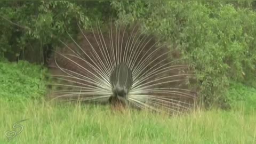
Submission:
{"label": "tall light-green grass field in front of the peacock", "polygon": [[[228,111],[197,109],[181,116],[134,110],[119,113],[107,106],[49,103],[28,97],[43,92],[31,84],[39,83],[39,69],[33,72],[37,75],[26,70],[31,69],[2,73],[0,143],[256,143],[256,90],[242,84],[233,84],[227,92],[233,101]],[[17,85],[24,89],[17,91]],[[22,95],[26,100],[20,99]],[[19,132],[20,128],[12,126],[22,119],[28,119],[20,122],[23,131],[8,141],[5,133]]]}

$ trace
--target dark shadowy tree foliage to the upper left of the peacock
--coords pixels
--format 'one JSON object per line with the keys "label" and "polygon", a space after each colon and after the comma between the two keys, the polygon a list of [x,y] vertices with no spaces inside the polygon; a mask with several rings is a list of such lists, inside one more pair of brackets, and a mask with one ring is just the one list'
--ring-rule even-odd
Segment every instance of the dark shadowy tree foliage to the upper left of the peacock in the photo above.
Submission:
{"label": "dark shadowy tree foliage to the upper left of the peacock", "polygon": [[[89,18],[103,19],[102,5],[109,2],[70,1],[11,1],[0,2],[0,57],[5,55],[11,61],[25,59],[45,62],[45,52],[76,36],[77,24],[87,28]],[[94,7],[89,7],[94,4]],[[87,6],[89,5],[89,6]],[[104,13],[105,17],[108,15]],[[49,46],[50,45],[50,46]],[[39,56],[39,57],[38,57]]]}

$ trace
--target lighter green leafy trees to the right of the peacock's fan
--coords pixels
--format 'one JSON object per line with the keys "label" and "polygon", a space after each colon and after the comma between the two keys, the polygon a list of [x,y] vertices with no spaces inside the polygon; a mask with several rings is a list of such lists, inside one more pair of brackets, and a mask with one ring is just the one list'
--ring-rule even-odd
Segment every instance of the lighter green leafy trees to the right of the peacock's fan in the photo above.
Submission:
{"label": "lighter green leafy trees to the right of the peacock's fan", "polygon": [[[225,104],[231,79],[255,81],[256,13],[200,2],[112,2],[119,21],[140,20],[148,31],[178,45],[197,77],[206,105]],[[128,5],[128,6],[127,6]]]}

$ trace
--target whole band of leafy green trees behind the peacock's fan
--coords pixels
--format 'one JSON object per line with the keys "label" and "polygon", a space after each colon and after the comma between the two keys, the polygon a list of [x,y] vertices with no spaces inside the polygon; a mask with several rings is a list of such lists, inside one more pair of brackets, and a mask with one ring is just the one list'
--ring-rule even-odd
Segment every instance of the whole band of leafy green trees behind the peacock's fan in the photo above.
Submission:
{"label": "whole band of leafy green trees behind the peacock's fan", "polygon": [[107,23],[112,18],[139,21],[142,29],[179,49],[195,71],[206,106],[229,106],[233,98],[225,92],[230,82],[255,87],[254,1],[2,1],[0,5],[1,59],[45,63],[58,39],[67,37],[66,31],[76,36],[77,23],[86,29],[95,20]]}

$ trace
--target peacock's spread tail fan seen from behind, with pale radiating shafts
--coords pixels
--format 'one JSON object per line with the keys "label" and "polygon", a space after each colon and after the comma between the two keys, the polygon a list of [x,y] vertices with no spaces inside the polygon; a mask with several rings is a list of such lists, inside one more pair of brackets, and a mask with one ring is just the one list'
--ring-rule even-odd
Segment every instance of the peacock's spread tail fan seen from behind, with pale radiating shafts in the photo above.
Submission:
{"label": "peacock's spread tail fan seen from behind, with pale radiating shafts", "polygon": [[97,25],[81,30],[50,59],[55,89],[52,99],[96,103],[121,102],[127,107],[181,113],[194,106],[188,88],[189,66],[139,25]]}

